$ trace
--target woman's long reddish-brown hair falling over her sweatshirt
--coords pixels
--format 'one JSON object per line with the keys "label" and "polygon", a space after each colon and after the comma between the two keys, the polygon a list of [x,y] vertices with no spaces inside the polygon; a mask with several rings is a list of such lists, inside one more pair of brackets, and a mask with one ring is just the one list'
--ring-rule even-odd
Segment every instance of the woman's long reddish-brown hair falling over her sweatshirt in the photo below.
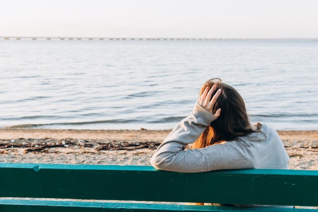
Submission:
{"label": "woman's long reddish-brown hair falling over her sweatshirt", "polygon": [[222,83],[221,79],[213,78],[204,83],[199,96],[206,87],[209,89],[216,85],[212,96],[220,88],[221,93],[217,98],[213,114],[221,108],[221,115],[211,122],[210,126],[200,135],[191,149],[200,149],[222,141],[229,141],[239,136],[245,136],[252,132],[260,131],[261,124],[257,123],[254,130],[246,113],[245,103],[242,96],[233,87]]}

